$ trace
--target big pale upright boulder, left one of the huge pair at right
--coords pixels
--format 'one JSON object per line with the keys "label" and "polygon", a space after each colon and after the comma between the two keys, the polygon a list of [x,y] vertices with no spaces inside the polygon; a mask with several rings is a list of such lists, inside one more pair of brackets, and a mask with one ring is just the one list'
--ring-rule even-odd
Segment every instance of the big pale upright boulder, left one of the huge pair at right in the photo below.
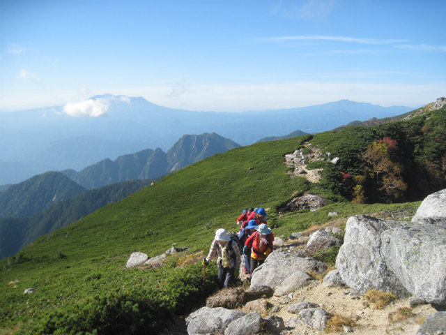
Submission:
{"label": "big pale upright boulder, left one of the huge pair at right", "polygon": [[336,259],[336,268],[348,287],[362,295],[375,289],[392,292],[398,297],[410,296],[397,276],[387,267],[380,251],[380,234],[406,225],[406,222],[386,221],[364,215],[348,219],[344,244]]}

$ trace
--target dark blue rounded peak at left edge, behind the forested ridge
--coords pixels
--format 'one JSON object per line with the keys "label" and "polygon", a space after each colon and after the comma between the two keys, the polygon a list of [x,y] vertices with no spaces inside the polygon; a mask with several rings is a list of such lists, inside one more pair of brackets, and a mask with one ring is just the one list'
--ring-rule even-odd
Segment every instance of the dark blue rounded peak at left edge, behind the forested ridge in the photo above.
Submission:
{"label": "dark blue rounded peak at left edge, behind the forested ridge", "polygon": [[1,192],[0,218],[32,216],[83,191],[84,187],[61,172],[46,172]]}

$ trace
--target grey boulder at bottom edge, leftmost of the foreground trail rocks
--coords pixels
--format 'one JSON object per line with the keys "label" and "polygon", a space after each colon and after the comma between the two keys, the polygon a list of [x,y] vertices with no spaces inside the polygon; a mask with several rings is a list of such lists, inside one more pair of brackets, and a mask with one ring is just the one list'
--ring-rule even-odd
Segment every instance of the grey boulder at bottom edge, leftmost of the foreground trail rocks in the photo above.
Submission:
{"label": "grey boulder at bottom edge, leftmost of the foreground trail rocks", "polygon": [[223,334],[233,320],[244,315],[246,314],[242,311],[222,307],[202,307],[185,319],[187,334]]}

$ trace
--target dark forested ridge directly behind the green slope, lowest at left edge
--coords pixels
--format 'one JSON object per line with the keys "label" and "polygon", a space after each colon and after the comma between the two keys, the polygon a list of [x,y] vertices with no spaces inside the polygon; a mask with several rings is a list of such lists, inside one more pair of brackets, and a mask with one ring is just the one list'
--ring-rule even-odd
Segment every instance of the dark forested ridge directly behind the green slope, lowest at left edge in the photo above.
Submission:
{"label": "dark forested ridge directly behind the green slope, lowest at left edge", "polygon": [[14,255],[37,237],[65,227],[106,204],[122,200],[155,179],[130,180],[84,191],[29,218],[0,218],[0,259]]}

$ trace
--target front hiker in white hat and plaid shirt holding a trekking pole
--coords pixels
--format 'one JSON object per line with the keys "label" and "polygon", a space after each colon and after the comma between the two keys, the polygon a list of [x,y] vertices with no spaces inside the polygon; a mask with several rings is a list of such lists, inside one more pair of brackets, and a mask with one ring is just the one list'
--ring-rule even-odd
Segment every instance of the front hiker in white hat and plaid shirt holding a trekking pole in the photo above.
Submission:
{"label": "front hiker in white hat and plaid shirt holding a trekking pole", "polygon": [[[218,265],[218,281],[220,288],[228,288],[232,285],[236,269],[240,268],[240,250],[236,241],[233,241],[229,234],[223,228],[217,229],[215,239],[210,245],[210,250],[203,265],[206,267],[208,262],[213,260],[215,254]],[[205,268],[206,269],[206,268]]]}

